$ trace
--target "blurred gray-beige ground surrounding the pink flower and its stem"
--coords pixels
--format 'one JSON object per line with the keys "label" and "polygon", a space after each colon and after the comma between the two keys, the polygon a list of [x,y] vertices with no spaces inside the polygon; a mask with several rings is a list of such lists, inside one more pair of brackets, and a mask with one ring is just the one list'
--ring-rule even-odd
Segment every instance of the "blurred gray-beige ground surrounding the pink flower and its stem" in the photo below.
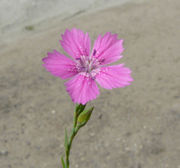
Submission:
{"label": "blurred gray-beige ground surrounding the pink flower and its stem", "polygon": [[73,168],[180,168],[179,0],[0,0],[0,168],[57,168],[75,105],[42,67],[68,28],[124,39],[132,85],[101,89]]}

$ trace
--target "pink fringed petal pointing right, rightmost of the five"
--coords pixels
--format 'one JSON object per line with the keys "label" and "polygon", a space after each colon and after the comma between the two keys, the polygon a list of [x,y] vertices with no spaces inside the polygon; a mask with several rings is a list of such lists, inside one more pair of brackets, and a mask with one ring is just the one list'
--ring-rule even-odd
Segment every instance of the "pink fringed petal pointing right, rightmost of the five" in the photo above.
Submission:
{"label": "pink fringed petal pointing right, rightmost of the five", "polygon": [[131,70],[124,64],[102,67],[96,75],[96,81],[105,89],[112,89],[130,85],[133,81]]}

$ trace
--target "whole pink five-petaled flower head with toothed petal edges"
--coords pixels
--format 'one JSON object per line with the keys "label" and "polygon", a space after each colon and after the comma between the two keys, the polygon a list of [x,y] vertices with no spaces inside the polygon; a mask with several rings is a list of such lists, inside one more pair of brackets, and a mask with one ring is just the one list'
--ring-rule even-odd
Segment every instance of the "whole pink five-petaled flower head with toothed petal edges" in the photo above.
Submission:
{"label": "whole pink five-petaled flower head with toothed petal edges", "polygon": [[96,99],[99,88],[125,87],[133,81],[131,70],[124,64],[106,66],[122,58],[123,40],[117,34],[99,35],[90,53],[88,33],[73,28],[66,30],[60,41],[71,58],[54,50],[43,59],[44,67],[61,79],[71,78],[65,83],[66,90],[74,103],[86,104]]}

